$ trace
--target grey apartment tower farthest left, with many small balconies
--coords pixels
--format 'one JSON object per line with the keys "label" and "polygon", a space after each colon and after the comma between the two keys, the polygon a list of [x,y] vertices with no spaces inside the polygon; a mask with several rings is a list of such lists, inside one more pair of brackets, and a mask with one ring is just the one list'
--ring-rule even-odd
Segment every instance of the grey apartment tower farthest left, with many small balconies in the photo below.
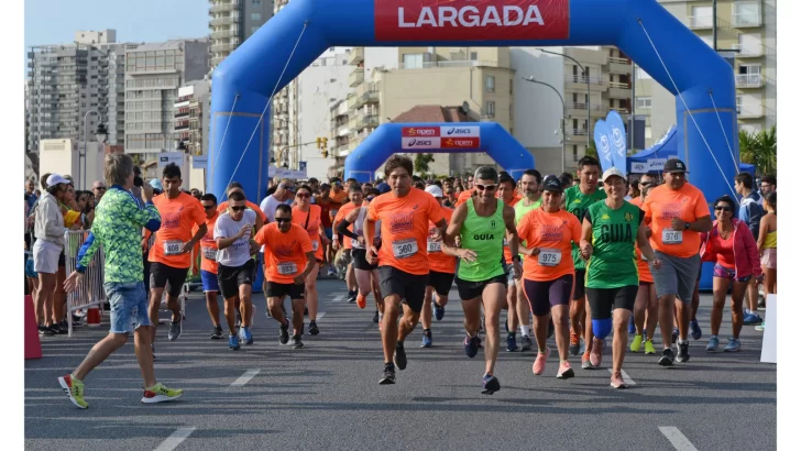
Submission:
{"label": "grey apartment tower farthest left, with many small balconies", "polygon": [[39,152],[41,140],[83,141],[85,118],[88,135],[102,123],[108,143],[122,144],[125,52],[136,46],[117,43],[114,30],[101,30],[77,31],[69,44],[30,47],[26,151]]}

